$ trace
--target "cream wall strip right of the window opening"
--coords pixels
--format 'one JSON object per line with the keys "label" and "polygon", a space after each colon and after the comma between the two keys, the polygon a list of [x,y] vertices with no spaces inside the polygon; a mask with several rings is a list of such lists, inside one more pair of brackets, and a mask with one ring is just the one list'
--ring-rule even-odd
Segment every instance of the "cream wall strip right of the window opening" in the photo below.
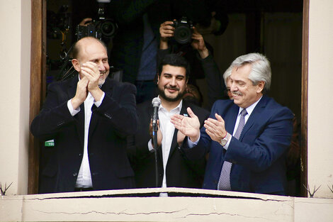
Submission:
{"label": "cream wall strip right of the window opening", "polygon": [[307,162],[315,197],[333,197],[333,1],[310,0]]}

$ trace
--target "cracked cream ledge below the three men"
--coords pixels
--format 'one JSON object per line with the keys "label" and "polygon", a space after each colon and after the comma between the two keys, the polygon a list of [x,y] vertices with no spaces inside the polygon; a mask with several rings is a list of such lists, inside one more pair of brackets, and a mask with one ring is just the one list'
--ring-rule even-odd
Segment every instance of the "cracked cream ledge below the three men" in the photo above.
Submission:
{"label": "cracked cream ledge below the three men", "polygon": [[[200,192],[214,197],[114,196],[137,192]],[[244,198],[239,199],[239,195]],[[4,196],[0,199],[0,218],[1,221],[332,222],[332,204],[333,199],[204,189],[128,189]]]}

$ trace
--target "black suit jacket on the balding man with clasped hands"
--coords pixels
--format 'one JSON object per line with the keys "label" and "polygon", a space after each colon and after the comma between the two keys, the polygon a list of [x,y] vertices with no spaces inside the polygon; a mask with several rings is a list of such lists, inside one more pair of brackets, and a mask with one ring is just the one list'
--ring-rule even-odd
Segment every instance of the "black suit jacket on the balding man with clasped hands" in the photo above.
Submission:
{"label": "black suit jacket on the balding man with clasped hands", "polygon": [[[55,155],[41,174],[55,184],[41,183],[42,192],[72,192],[84,151],[84,104],[72,116],[67,101],[77,89],[78,77],[50,84],[42,111],[31,123],[31,133],[40,140],[55,140]],[[88,152],[94,190],[135,187],[134,173],[126,155],[126,136],[137,129],[136,89],[106,79],[101,106],[93,105]],[[45,185],[45,186],[44,186]],[[43,187],[44,186],[44,187]]]}

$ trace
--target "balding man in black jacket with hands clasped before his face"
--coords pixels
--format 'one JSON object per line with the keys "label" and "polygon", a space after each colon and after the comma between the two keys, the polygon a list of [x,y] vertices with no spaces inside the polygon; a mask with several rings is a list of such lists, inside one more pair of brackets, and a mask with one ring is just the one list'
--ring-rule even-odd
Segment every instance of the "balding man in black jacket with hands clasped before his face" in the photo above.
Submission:
{"label": "balding man in black jacket with hands clasped before his face", "polygon": [[[92,37],[73,48],[79,74],[50,84],[42,111],[31,123],[41,140],[53,139],[55,155],[41,174],[41,192],[135,187],[126,136],[137,129],[135,86],[108,78],[106,46]],[[48,187],[50,182],[54,187]]]}

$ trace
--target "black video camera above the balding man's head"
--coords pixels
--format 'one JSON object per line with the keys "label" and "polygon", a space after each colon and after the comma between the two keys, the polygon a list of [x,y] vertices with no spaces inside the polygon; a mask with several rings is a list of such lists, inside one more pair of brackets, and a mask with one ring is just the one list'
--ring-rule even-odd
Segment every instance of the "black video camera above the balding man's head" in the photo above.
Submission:
{"label": "black video camera above the balding man's head", "polygon": [[110,40],[117,33],[118,24],[112,18],[106,18],[103,1],[98,1],[98,20],[94,20],[86,26],[77,26],[75,35],[77,40],[86,36],[93,36],[100,40]]}

